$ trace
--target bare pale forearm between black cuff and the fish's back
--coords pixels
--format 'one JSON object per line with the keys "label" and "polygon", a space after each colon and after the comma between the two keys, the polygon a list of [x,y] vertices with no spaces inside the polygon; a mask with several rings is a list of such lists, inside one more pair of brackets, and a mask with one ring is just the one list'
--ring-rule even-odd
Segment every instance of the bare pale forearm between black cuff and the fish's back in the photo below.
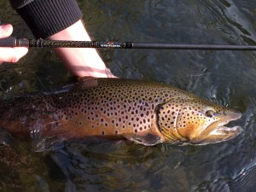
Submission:
{"label": "bare pale forearm between black cuff and the fish's back", "polygon": [[[81,20],[67,29],[49,37],[51,40],[90,41]],[[69,72],[76,76],[108,78],[106,66],[96,49],[89,48],[55,48],[56,55],[66,65]]]}

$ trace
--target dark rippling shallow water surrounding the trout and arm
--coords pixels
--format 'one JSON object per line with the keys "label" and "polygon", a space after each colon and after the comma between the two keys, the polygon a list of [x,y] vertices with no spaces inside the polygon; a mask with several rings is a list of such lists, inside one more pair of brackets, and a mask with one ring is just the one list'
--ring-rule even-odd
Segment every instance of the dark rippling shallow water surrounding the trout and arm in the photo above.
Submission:
{"label": "dark rippling shallow water surrounding the trout and arm", "polygon": [[[255,44],[256,3],[250,0],[79,1],[96,40],[173,44]],[[0,19],[14,35],[31,32],[7,0]],[[174,84],[243,113],[239,137],[207,146],[153,148],[125,141],[69,141],[34,153],[26,143],[0,148],[1,191],[245,191],[256,188],[256,52],[100,50],[121,78]],[[55,73],[55,72],[58,73]],[[50,49],[31,49],[19,64],[0,67],[1,97],[69,82]]]}

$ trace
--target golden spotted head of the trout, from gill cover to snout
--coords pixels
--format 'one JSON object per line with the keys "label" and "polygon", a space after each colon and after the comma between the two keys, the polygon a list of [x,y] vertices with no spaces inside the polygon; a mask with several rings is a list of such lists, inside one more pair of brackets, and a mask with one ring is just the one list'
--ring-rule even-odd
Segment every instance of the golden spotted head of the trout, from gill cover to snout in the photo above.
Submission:
{"label": "golden spotted head of the trout, from gill cover to snout", "polygon": [[224,126],[241,113],[201,98],[173,99],[155,111],[156,125],[166,143],[208,144],[230,140],[240,126]]}

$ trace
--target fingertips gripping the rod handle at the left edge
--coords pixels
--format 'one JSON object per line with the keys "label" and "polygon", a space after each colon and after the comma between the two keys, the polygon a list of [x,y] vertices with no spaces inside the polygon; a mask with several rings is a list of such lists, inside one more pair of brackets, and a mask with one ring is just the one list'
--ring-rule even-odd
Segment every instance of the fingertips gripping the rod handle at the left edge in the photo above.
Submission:
{"label": "fingertips gripping the rod handle at the left edge", "polygon": [[[12,32],[13,26],[10,24],[0,26],[0,38],[8,38]],[[3,62],[17,62],[22,56],[26,55],[27,51],[28,48],[26,47],[0,47],[0,64]]]}

